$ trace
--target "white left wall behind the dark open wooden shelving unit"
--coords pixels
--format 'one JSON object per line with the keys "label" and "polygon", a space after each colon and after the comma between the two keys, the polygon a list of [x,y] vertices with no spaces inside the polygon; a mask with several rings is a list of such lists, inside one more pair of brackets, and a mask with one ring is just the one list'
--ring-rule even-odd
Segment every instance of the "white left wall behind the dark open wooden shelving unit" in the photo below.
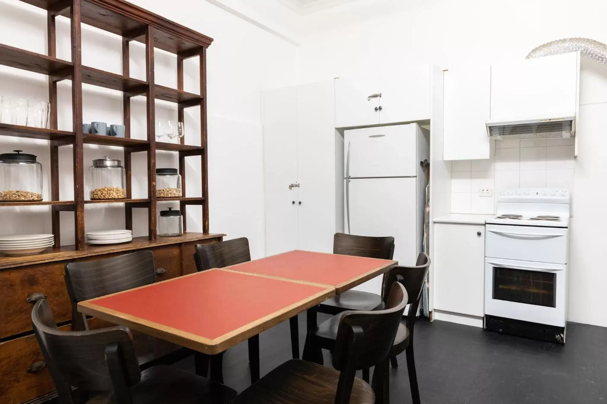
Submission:
{"label": "white left wall behind the dark open wooden shelving unit", "polygon": [[[209,2],[197,0],[135,0],[147,8],[189,28],[211,36],[215,41],[208,55],[209,115],[209,211],[210,230],[231,237],[249,237],[251,254],[263,255],[263,177],[260,91],[296,81],[295,45],[262,30]],[[188,10],[188,12],[183,12]],[[69,20],[58,18],[58,57],[70,60]],[[46,54],[46,12],[16,0],[0,0],[0,36],[4,44]],[[144,47],[131,46],[131,76],[145,78]],[[159,84],[177,86],[176,58],[161,50],[155,54],[155,78]],[[121,73],[121,39],[83,25],[83,64]],[[185,90],[197,93],[198,61],[185,64]],[[59,129],[72,130],[70,82],[59,84]],[[121,93],[83,86],[84,122],[122,123]],[[0,94],[47,101],[46,76],[0,67]],[[157,101],[157,118],[177,118],[177,105]],[[199,144],[200,115],[196,108],[186,110],[186,142]],[[146,136],[145,99],[132,101],[132,137]],[[44,169],[44,199],[50,199],[49,147],[46,141],[0,137],[0,152],[18,148],[38,155]],[[61,199],[73,199],[72,149],[60,149]],[[85,145],[84,165],[92,159],[112,156],[123,159],[121,148]],[[133,196],[146,197],[145,155],[134,155]],[[187,196],[200,196],[200,157],[189,157]],[[158,152],[158,167],[177,167],[177,157]],[[85,173],[85,183],[86,173]],[[159,204],[159,208],[170,206]],[[177,204],[174,204],[177,206]],[[50,233],[50,207],[2,208],[0,234]],[[18,213],[18,214],[15,214]],[[73,214],[61,213],[61,244],[74,242]],[[122,228],[121,204],[86,207],[86,230]],[[136,236],[147,234],[147,213],[134,211]],[[17,230],[18,229],[18,230]],[[188,209],[188,230],[202,231],[202,210]]]}

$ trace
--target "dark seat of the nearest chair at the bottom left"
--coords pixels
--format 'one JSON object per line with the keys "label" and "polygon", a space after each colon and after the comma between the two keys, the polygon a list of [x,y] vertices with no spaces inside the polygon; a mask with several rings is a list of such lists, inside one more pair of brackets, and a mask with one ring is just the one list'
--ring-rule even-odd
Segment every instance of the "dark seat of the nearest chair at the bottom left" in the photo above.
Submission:
{"label": "dark seat of the nearest chair at the bottom left", "polygon": [[[236,391],[220,383],[171,366],[154,366],[141,373],[141,382],[131,388],[134,404],[227,404]],[[109,396],[96,396],[87,404],[114,404]]]}

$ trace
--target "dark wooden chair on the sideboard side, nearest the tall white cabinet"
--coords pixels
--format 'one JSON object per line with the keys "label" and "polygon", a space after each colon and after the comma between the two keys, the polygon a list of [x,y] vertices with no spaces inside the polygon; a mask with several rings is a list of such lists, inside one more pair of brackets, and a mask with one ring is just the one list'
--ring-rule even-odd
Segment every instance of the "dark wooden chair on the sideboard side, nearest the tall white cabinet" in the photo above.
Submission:
{"label": "dark wooden chair on the sideboard side, nearest the tall white cabinet", "polygon": [[[251,260],[249,240],[246,237],[213,244],[198,244],[195,249],[194,261],[198,272],[229,267]],[[248,345],[251,383],[254,383],[259,380],[259,334],[249,338]],[[223,380],[222,355],[211,357],[211,376],[218,381]]]}

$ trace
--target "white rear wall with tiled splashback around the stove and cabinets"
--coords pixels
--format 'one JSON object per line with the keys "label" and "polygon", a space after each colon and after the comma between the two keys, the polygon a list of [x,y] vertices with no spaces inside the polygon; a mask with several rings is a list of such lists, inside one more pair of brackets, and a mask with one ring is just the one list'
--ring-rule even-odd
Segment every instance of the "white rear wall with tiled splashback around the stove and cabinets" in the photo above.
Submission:
{"label": "white rear wall with tiled splashback around the stove and cabinets", "polygon": [[[435,62],[444,68],[470,61],[495,64],[523,59],[538,45],[574,36],[607,42],[606,12],[607,3],[594,0],[358,0],[306,17],[315,29],[300,49],[299,78],[307,82],[398,74],[399,65],[410,62]],[[541,142],[532,149],[524,147],[533,146],[529,142],[502,144],[506,148],[499,148],[490,161],[474,162],[474,167],[453,164],[452,197],[461,199],[453,201],[456,211],[491,213],[492,198],[472,193],[481,184],[498,188],[545,181],[546,186],[563,186],[573,176],[568,317],[607,326],[607,272],[602,268],[607,233],[597,230],[607,225],[597,214],[607,198],[602,187],[607,174],[602,123],[607,72],[588,63],[583,69],[577,159],[572,159],[569,145]]]}

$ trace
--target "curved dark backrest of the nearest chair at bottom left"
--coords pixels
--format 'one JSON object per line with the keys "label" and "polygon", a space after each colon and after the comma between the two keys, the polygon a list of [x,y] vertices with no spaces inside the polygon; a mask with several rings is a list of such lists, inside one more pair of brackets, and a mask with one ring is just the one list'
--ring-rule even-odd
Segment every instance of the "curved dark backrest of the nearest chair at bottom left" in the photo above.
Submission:
{"label": "curved dark backrest of the nearest chair at bottom left", "polygon": [[[117,373],[124,385],[132,386],[141,379],[137,356],[129,329],[114,326],[94,331],[61,331],[55,325],[46,299],[32,310],[32,328],[62,404],[72,404],[71,386],[90,391],[112,391]],[[120,369],[106,363],[108,346],[118,348]]]}

